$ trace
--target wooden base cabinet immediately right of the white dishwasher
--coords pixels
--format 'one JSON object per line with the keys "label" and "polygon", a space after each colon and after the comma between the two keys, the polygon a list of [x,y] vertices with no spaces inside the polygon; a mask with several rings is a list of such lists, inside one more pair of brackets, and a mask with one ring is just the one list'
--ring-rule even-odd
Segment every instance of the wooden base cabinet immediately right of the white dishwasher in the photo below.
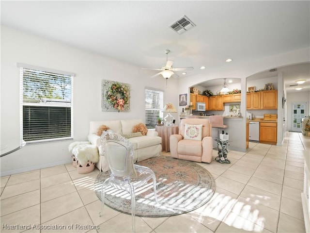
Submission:
{"label": "wooden base cabinet immediately right of the white dishwasher", "polygon": [[260,122],[260,143],[277,144],[277,122]]}

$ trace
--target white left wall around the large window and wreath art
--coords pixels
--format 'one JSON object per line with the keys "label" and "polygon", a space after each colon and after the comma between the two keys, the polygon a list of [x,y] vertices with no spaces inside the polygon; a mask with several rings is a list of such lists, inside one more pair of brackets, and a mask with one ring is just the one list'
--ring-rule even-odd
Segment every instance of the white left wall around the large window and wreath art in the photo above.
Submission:
{"label": "white left wall around the large window and wreath art", "polygon": [[[178,106],[179,92],[175,88],[178,86],[177,79],[169,79],[166,89],[164,78],[158,76],[149,79],[151,72],[141,71],[140,67],[1,25],[1,138],[19,137],[19,68],[16,63],[76,74],[73,84],[74,141],[87,140],[91,120],[144,120],[145,86],[163,90],[164,103],[172,102]],[[101,111],[102,79],[131,85],[130,112]],[[72,141],[26,145],[21,150],[0,158],[0,175],[70,163],[67,147]]]}

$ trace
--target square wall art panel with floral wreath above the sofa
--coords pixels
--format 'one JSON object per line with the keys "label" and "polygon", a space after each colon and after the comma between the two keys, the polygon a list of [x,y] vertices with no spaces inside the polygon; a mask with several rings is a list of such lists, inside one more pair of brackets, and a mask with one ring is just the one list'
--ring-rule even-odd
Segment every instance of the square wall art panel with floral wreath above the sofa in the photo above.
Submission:
{"label": "square wall art panel with floral wreath above the sofa", "polygon": [[130,84],[102,80],[101,111],[129,112]]}

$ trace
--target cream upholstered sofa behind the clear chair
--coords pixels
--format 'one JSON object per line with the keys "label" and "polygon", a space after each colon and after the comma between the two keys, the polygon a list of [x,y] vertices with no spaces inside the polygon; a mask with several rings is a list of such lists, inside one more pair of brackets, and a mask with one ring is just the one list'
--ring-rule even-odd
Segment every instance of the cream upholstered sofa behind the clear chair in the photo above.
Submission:
{"label": "cream upholstered sofa behind the clear chair", "polygon": [[[98,136],[97,130],[101,125],[106,125],[113,132],[120,134],[132,133],[133,126],[143,123],[141,119],[132,120],[109,120],[109,121],[91,121],[88,140],[96,145],[99,150],[99,162],[96,163],[96,167],[100,171],[109,170],[108,162],[104,157],[104,150],[101,146],[100,136]],[[139,162],[148,158],[157,157],[161,154],[161,137],[158,137],[156,131],[148,130],[145,136],[131,137],[128,140],[134,147],[134,162]]]}

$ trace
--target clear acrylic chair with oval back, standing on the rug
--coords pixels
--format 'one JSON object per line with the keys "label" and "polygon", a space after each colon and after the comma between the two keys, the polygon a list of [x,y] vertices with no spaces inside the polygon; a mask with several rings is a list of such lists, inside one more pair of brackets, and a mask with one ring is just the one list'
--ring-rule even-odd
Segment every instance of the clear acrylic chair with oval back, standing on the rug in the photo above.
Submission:
{"label": "clear acrylic chair with oval back, standing on the rug", "polygon": [[109,164],[110,176],[101,186],[101,208],[99,216],[101,216],[103,211],[106,188],[112,186],[115,189],[125,190],[130,193],[132,231],[136,232],[135,189],[146,185],[152,179],[155,202],[158,203],[155,173],[149,167],[133,163],[133,146],[128,139],[125,139],[119,133],[113,133],[111,130],[105,131],[101,135],[101,145],[104,148]]}

